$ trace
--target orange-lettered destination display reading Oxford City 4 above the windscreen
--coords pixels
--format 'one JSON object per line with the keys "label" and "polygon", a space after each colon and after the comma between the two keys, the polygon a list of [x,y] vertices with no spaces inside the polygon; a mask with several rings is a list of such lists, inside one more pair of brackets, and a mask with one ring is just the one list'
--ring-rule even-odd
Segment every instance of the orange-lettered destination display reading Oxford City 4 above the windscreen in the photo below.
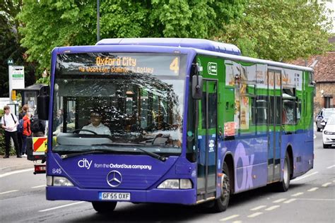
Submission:
{"label": "orange-lettered destination display reading Oxford City 4 above the windscreen", "polygon": [[180,54],[59,54],[57,66],[63,74],[150,74],[179,76]]}

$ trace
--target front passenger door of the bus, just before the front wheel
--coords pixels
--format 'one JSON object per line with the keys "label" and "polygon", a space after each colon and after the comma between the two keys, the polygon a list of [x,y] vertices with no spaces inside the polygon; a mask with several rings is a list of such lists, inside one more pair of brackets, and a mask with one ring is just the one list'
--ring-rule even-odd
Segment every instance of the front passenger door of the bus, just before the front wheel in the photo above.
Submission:
{"label": "front passenger door of the bus, just before the front wheel", "polygon": [[218,83],[204,80],[199,101],[197,200],[216,196]]}

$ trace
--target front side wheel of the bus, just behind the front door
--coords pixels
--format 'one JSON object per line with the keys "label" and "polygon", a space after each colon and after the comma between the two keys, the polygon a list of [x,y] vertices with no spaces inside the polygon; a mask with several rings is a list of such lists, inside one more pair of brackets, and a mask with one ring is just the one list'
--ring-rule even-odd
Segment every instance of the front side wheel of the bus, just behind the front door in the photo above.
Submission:
{"label": "front side wheel of the bus, just behind the front door", "polygon": [[227,209],[230,198],[230,176],[226,163],[223,164],[223,176],[221,176],[221,196],[214,201],[213,211],[223,212]]}

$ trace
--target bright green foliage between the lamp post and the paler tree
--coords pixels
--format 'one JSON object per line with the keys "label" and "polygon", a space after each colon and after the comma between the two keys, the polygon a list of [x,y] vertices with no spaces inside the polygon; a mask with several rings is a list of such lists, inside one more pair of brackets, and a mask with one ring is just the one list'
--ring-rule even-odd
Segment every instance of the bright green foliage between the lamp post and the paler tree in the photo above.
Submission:
{"label": "bright green foliage between the lamp post and the paler tree", "polygon": [[221,30],[223,23],[228,24],[232,18],[242,16],[244,2],[245,0],[104,1],[102,32],[106,37],[210,38]]}

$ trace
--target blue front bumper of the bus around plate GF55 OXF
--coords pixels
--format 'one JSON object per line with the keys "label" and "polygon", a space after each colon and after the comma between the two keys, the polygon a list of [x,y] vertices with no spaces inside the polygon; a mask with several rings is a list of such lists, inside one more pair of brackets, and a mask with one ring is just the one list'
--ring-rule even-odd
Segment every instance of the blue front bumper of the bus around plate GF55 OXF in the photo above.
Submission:
{"label": "blue front bumper of the bus around plate GF55 OXF", "polygon": [[[82,189],[76,186],[47,186],[47,200],[83,200],[83,201],[117,201],[132,203],[175,203],[194,205],[196,203],[196,189],[171,190],[152,189],[141,190],[105,190]],[[101,193],[130,193],[129,200],[101,200]]]}

